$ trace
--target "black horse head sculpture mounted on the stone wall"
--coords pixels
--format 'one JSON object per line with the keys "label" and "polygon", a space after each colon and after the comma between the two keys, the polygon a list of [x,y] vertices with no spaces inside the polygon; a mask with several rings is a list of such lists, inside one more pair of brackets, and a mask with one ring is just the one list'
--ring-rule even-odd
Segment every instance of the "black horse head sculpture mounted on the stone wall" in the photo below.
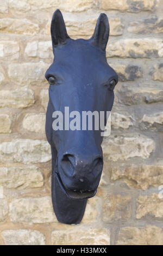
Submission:
{"label": "black horse head sculpture mounted on the stone wall", "polygon": [[91,39],[73,40],[56,10],[51,35],[55,58],[45,76],[49,82],[46,136],[52,148],[52,202],[59,222],[77,224],[101,179],[103,137],[100,128],[54,130],[57,116],[53,113],[65,114],[65,107],[80,114],[111,111],[118,77],[106,62],[109,22],[105,14],[99,16]]}

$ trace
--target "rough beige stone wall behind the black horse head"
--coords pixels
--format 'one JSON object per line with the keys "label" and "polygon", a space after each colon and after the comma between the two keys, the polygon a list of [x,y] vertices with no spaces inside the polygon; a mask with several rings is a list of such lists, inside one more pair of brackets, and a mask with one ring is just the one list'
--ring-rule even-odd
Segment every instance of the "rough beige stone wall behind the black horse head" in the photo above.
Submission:
{"label": "rough beige stone wall behind the black horse head", "polygon": [[[162,0],[0,1],[0,244],[162,245]],[[53,11],[73,39],[90,38],[106,13],[115,89],[97,196],[79,225],[57,222],[45,136]]]}

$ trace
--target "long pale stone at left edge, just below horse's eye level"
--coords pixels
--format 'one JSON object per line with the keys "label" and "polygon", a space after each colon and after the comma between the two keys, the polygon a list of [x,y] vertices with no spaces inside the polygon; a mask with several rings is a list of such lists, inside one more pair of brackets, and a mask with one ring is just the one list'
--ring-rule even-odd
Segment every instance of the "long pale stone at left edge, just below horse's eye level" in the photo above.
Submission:
{"label": "long pale stone at left edge, just below horse's eye level", "polygon": [[0,90],[0,107],[26,108],[34,102],[34,92],[31,89]]}

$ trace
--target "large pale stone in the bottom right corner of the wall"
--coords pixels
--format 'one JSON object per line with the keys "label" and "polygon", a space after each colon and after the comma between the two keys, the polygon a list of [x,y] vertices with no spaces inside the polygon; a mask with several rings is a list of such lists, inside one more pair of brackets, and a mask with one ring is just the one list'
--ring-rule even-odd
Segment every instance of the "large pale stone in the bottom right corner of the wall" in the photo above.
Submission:
{"label": "large pale stone in the bottom right corner of the wall", "polygon": [[154,225],[121,228],[116,245],[162,245],[163,229]]}

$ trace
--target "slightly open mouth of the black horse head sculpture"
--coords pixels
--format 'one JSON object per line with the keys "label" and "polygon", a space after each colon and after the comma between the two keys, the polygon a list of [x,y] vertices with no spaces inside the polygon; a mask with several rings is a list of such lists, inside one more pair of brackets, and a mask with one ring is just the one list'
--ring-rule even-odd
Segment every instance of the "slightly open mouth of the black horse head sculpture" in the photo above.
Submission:
{"label": "slightly open mouth of the black horse head sculpture", "polygon": [[59,185],[61,187],[61,190],[66,194],[66,196],[70,199],[76,199],[76,200],[84,200],[88,199],[91,197],[94,197],[97,190],[95,191],[89,191],[89,192],[80,192],[80,191],[73,191],[73,190],[68,190],[64,184],[61,181],[59,173],[55,172],[55,175],[57,177],[57,180],[59,182]]}

